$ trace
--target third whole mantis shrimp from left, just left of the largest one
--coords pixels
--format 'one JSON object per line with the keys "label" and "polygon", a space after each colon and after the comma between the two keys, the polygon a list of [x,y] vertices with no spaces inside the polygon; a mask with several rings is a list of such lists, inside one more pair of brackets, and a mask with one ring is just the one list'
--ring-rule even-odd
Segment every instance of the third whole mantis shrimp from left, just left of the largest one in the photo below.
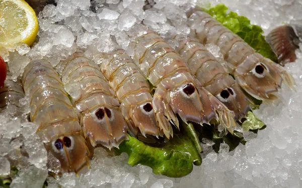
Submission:
{"label": "third whole mantis shrimp from left, just left of the largest one", "polygon": [[132,58],[121,49],[106,55],[107,60],[101,64],[101,71],[117,94],[130,132],[135,136],[140,132],[144,137],[146,134],[159,137],[163,132],[170,138],[173,133],[170,123],[165,118],[159,119],[158,124],[149,83]]}

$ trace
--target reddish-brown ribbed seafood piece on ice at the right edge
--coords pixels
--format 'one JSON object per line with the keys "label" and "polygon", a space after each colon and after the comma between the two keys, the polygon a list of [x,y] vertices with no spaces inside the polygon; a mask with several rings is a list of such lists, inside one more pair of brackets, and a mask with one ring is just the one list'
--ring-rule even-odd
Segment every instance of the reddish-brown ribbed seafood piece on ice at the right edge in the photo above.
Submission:
{"label": "reddish-brown ribbed seafood piece on ice at the right edge", "polygon": [[279,26],[266,36],[267,42],[278,57],[279,64],[295,61],[295,50],[299,49],[301,36],[302,27],[299,25]]}

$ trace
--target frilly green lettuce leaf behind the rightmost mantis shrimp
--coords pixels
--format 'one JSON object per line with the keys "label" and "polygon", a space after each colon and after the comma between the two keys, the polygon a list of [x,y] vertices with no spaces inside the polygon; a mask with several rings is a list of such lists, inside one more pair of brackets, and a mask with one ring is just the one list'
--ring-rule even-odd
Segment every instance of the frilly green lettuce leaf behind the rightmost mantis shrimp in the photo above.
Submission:
{"label": "frilly green lettuce leaf behind the rightmost mantis shrimp", "polygon": [[258,53],[264,57],[278,62],[276,54],[270,45],[265,41],[263,30],[257,25],[252,25],[250,20],[244,16],[238,16],[235,12],[226,13],[228,7],[219,4],[209,9],[203,9],[222,25],[229,28],[233,33],[239,35],[245,42],[252,46]]}

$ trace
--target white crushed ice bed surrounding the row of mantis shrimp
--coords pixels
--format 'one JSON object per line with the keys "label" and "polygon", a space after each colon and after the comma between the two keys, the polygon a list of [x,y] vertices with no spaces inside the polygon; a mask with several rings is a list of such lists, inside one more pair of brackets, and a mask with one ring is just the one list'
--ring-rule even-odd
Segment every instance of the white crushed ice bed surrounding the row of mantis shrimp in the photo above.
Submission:
{"label": "white crushed ice bed surrounding the row of mantis shrimp", "polygon": [[[148,2],[149,5],[146,5]],[[108,52],[116,47],[127,47],[130,40],[146,32],[148,26],[162,36],[189,33],[185,11],[192,4],[206,6],[208,1],[198,0],[57,0],[56,6],[47,5],[40,12],[39,41],[30,49],[25,44],[15,46],[16,51],[3,48],[0,54],[9,60],[13,79],[22,75],[32,58],[45,58],[56,66],[61,59],[73,53],[77,46],[86,48],[91,58],[95,52]],[[302,4],[296,0],[220,0],[232,11],[248,17],[252,24],[260,25],[267,33],[277,25],[298,23]],[[146,7],[152,9],[144,10]],[[146,25],[142,25],[141,22]],[[207,46],[219,57],[217,46]],[[73,173],[59,179],[47,177],[49,165],[53,171],[59,166],[54,157],[47,155],[35,131],[37,126],[25,117],[14,117],[13,106],[0,114],[0,176],[10,173],[10,166],[20,170],[11,187],[41,188],[46,177],[48,187],[301,187],[302,180],[302,56],[286,69],[297,82],[296,93],[285,87],[280,91],[283,103],[278,106],[263,104],[255,114],[267,124],[265,130],[244,133],[249,140],[228,152],[228,145],[220,145],[219,153],[211,149],[212,141],[203,139],[203,162],[183,178],[168,178],[152,173],[147,166],[131,167],[128,156],[110,157],[97,148],[91,161],[91,170],[80,178]],[[58,68],[59,69],[59,68]],[[59,71],[59,70],[58,70]],[[28,99],[21,101],[28,112]],[[27,108],[26,108],[27,106]],[[239,131],[240,128],[237,128]],[[14,138],[14,139],[11,139]]]}

